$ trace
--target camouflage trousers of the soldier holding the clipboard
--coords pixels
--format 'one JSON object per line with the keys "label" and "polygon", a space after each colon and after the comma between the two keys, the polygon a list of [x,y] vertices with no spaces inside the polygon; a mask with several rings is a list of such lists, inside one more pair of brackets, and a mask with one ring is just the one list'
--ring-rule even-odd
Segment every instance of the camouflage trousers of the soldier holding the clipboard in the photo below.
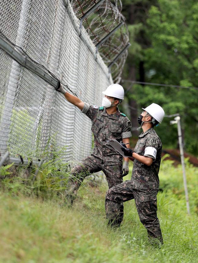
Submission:
{"label": "camouflage trousers of the soldier holding the clipboard", "polygon": [[134,199],[139,219],[146,228],[148,237],[159,239],[163,244],[160,222],[157,218],[157,192],[158,190],[132,189],[131,181],[114,186],[106,192],[106,217],[110,223],[119,225],[123,219],[120,203]]}

